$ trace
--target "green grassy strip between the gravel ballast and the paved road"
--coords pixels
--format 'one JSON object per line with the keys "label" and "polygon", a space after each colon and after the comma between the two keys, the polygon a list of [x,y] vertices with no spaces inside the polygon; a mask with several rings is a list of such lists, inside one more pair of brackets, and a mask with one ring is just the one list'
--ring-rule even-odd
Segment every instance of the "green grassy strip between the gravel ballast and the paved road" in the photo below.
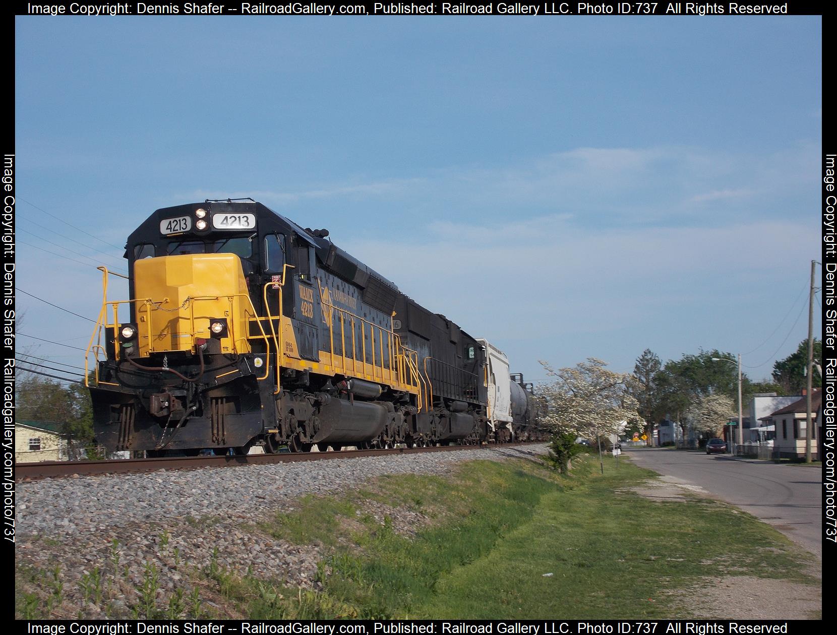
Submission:
{"label": "green grassy strip between the gravel ballast and the paved road", "polygon": [[[801,552],[752,516],[625,491],[653,474],[624,459],[603,475],[593,457],[577,463],[562,478],[531,461],[474,462],[455,479],[308,497],[260,530],[321,545],[322,591],[223,577],[224,595],[250,617],[650,618],[689,617],[676,591],[701,576],[812,582]],[[363,512],[368,501],[429,521],[405,535]]]}

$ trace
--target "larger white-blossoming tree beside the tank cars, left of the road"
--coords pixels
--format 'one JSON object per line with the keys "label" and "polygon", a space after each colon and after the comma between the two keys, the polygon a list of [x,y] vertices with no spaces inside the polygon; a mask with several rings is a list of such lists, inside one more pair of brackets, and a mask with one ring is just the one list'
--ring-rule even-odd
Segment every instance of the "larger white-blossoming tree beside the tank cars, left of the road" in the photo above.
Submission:
{"label": "larger white-blossoming tree beside the tank cars, left of the road", "polygon": [[589,357],[572,368],[554,370],[542,361],[552,383],[542,387],[547,415],[542,422],[552,433],[578,437],[619,434],[625,422],[639,417],[630,389],[633,375],[608,371],[607,362]]}

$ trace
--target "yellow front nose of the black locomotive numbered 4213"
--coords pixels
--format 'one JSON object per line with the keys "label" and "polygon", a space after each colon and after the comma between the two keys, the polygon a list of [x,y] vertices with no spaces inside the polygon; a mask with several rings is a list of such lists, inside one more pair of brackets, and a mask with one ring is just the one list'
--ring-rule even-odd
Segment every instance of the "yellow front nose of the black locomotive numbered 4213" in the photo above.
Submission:
{"label": "yellow front nose of the black locomotive numbered 4213", "polygon": [[193,351],[197,339],[211,337],[220,340],[221,352],[250,351],[247,325],[254,315],[234,253],[137,260],[134,281],[140,357]]}

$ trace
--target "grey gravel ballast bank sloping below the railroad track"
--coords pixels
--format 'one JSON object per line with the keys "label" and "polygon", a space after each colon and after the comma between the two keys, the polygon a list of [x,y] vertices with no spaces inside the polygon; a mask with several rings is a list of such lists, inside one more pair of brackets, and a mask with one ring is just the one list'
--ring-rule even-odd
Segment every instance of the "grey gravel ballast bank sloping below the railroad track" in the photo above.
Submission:
{"label": "grey gravel ballast bank sloping below the railroad track", "polygon": [[[196,573],[251,573],[317,587],[323,554],[316,545],[290,545],[254,530],[303,494],[352,489],[384,474],[447,474],[464,461],[545,452],[545,444],[536,444],[25,482],[18,484],[17,583],[29,589],[30,602],[36,595],[42,606],[48,602],[52,617],[145,617],[136,607],[148,606],[149,587],[156,610],[167,617],[193,616],[187,597],[201,598],[202,614],[218,614],[208,586],[196,588]],[[414,512],[397,507],[387,506],[386,515],[396,526],[416,522]],[[50,600],[44,586],[59,592]],[[172,600],[176,591],[182,601]]]}

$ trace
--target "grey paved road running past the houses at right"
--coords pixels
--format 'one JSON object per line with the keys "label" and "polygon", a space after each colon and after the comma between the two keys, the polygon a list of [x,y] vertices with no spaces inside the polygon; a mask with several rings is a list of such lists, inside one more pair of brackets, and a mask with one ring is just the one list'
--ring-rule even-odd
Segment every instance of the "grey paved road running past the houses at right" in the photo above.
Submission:
{"label": "grey paved road running past the houses at right", "polygon": [[665,448],[625,450],[641,467],[697,485],[712,496],[737,505],[822,560],[819,468]]}

